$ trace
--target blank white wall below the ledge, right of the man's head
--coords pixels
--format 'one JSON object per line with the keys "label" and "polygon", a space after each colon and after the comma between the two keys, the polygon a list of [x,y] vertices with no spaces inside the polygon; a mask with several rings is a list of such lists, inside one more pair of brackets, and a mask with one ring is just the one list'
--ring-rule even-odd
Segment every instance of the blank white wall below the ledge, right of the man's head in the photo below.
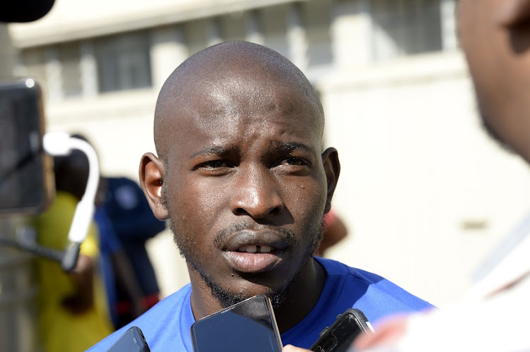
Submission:
{"label": "blank white wall below the ledge, right of the man's head", "polygon": [[437,305],[462,296],[530,210],[530,174],[482,131],[461,54],[342,71],[322,92],[351,229],[329,255]]}

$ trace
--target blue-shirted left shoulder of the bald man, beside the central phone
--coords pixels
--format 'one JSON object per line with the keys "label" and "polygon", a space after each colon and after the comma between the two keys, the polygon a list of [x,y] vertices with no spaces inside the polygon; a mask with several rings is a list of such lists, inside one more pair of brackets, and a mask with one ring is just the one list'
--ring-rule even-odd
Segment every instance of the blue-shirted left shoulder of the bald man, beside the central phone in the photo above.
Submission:
{"label": "blue-shirted left shoulder of the bald man, beside the central phone", "polygon": [[191,286],[187,284],[88,351],[107,351],[127,329],[133,326],[141,329],[151,349],[165,351],[177,346],[178,351],[187,351],[188,345],[191,344],[191,341],[188,341],[189,326],[194,322],[189,303],[190,292]]}

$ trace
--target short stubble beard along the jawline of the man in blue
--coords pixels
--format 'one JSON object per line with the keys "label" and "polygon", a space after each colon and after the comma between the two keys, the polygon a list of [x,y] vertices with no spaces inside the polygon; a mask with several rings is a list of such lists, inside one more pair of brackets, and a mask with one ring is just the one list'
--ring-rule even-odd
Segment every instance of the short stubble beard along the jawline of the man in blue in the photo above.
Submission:
{"label": "short stubble beard along the jawline of the man in blue", "polygon": [[[171,214],[169,212],[169,207],[167,206],[167,198],[166,198],[166,192],[165,192],[165,185],[163,187],[163,205],[167,209],[167,213]],[[167,226],[169,227],[171,234],[173,236],[173,241],[175,241],[175,244],[177,245],[177,248],[179,249],[179,253],[188,265],[191,267],[191,269],[195,270],[201,275],[201,278],[204,280],[204,283],[211,289],[211,292],[213,296],[215,296],[218,301],[224,306],[229,307],[230,305],[234,305],[235,303],[239,303],[241,301],[245,301],[245,299],[249,298],[249,296],[245,295],[245,293],[235,293],[233,291],[228,291],[228,289],[224,289],[222,286],[216,283],[216,281],[211,277],[211,275],[206,274],[206,271],[199,265],[199,263],[195,260],[195,256],[193,251],[190,248],[198,248],[195,241],[189,238],[189,236],[179,236],[175,229],[175,224],[172,220],[171,215],[169,215],[169,218],[167,219]],[[235,226],[237,227],[237,225]],[[302,268],[305,267],[307,262],[312,260],[313,253],[317,248],[319,247],[320,242],[322,241],[322,237],[324,236],[324,211],[322,211],[322,219],[319,222],[319,225],[316,229],[311,229],[311,236],[313,238],[312,242],[310,243],[310,246],[307,248],[306,253],[303,255],[305,257],[305,261],[300,265],[298,268],[298,271],[293,274],[293,277],[287,282],[287,284],[279,289],[273,290],[269,288],[269,291],[266,292],[266,296],[268,296],[271,299],[271,303],[273,305],[273,308],[277,309],[279,308],[284,302],[285,299],[288,296],[288,293],[293,289],[293,284],[297,281],[296,279],[300,275],[300,272],[302,271]],[[281,230],[283,235],[286,238],[286,241],[288,243],[293,243],[295,241],[294,233],[290,230]],[[288,233],[291,232],[291,233]],[[216,236],[217,237],[217,236]]]}

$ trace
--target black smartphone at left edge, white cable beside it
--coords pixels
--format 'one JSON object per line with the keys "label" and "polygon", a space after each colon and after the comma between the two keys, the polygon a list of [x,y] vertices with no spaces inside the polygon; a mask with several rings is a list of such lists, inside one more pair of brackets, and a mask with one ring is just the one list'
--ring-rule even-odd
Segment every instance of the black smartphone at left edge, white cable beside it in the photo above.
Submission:
{"label": "black smartphone at left edge, white cable beside it", "polygon": [[44,151],[42,92],[32,78],[0,81],[0,215],[36,214],[54,193]]}

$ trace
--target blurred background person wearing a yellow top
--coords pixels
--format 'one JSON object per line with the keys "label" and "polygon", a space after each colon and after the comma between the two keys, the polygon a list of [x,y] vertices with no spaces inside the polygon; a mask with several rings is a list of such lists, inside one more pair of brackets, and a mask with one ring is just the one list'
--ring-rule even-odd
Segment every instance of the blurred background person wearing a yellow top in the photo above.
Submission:
{"label": "blurred background person wearing a yellow top", "polygon": [[[49,209],[33,219],[37,241],[64,250],[73,213],[83,196],[88,160],[74,152],[54,160],[57,195]],[[85,351],[112,332],[105,289],[98,267],[98,233],[94,224],[81,245],[72,272],[59,262],[37,259],[38,335],[45,352]]]}

